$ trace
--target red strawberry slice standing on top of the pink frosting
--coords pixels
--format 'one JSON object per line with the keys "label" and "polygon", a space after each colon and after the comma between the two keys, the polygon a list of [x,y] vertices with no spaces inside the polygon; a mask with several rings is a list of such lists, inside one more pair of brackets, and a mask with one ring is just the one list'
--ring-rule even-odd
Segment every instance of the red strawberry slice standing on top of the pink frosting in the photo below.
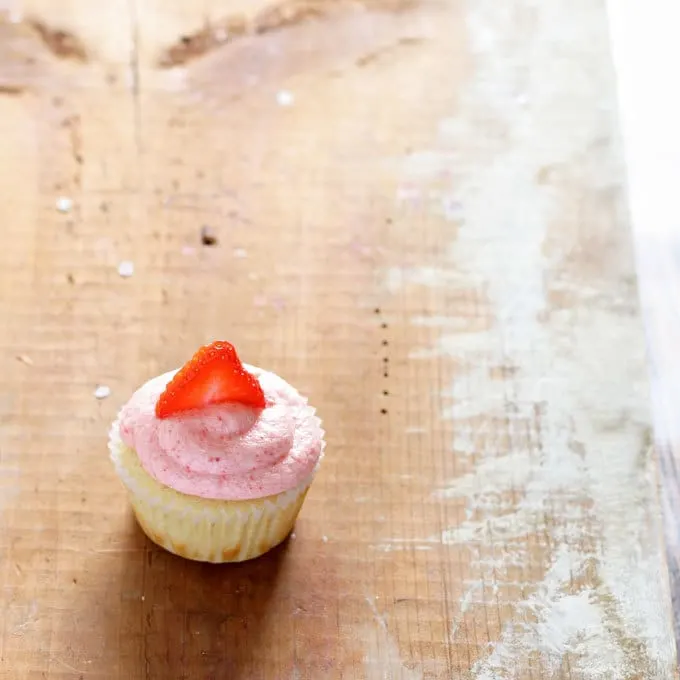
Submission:
{"label": "red strawberry slice standing on top of the pink frosting", "polygon": [[233,345],[213,342],[201,347],[168,383],[156,402],[156,417],[226,403],[264,408],[264,392]]}

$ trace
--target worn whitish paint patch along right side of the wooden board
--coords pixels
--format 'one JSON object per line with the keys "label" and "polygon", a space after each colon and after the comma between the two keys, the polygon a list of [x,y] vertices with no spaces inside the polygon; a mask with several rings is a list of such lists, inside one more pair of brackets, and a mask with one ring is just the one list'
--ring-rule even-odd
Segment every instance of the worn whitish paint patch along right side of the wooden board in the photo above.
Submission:
{"label": "worn whitish paint patch along right side of the wooden board", "polygon": [[470,677],[530,677],[540,659],[546,678],[672,678],[604,8],[469,0],[467,21],[474,78],[404,176],[426,192],[451,173],[441,203],[457,208],[437,214],[457,236],[446,262],[386,280],[467,291],[490,319],[414,319],[440,336],[412,359],[458,367],[441,415],[472,469],[434,492],[467,508],[441,537],[469,551],[475,577],[452,642],[466,612],[510,604]]}

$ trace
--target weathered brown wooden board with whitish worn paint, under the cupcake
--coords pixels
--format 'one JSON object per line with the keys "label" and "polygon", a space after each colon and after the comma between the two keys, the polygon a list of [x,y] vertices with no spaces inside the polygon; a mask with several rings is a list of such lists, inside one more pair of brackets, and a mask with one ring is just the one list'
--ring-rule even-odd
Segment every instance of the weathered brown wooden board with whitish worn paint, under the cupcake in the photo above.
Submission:
{"label": "weathered brown wooden board with whitish worn paint, under the cupcake", "polygon": [[[7,9],[0,677],[675,678],[602,3]],[[106,457],[216,337],[329,444],[231,567]]]}

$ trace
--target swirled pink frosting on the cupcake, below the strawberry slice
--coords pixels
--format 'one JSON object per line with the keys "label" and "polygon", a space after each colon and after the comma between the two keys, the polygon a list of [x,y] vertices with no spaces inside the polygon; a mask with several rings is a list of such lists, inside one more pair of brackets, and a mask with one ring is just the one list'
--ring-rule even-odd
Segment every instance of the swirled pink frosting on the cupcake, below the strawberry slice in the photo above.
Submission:
{"label": "swirled pink frosting on the cupcake, below the strawberry slice", "polygon": [[120,435],[152,477],[192,496],[244,500],[292,489],[312,474],[323,433],[307,400],[274,373],[245,368],[262,386],[262,410],[222,404],[159,419],[156,402],[176,371],[132,395]]}

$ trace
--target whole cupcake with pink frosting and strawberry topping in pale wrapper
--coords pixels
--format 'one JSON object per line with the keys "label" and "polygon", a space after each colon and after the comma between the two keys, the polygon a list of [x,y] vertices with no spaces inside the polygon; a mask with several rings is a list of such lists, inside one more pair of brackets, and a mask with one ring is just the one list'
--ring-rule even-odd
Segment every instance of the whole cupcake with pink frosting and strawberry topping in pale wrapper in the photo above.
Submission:
{"label": "whole cupcake with pink frosting and strawberry topping in pale wrapper", "polygon": [[241,562],[291,532],[323,436],[295,388],[214,342],[132,395],[109,450],[154,543],[192,560]]}

